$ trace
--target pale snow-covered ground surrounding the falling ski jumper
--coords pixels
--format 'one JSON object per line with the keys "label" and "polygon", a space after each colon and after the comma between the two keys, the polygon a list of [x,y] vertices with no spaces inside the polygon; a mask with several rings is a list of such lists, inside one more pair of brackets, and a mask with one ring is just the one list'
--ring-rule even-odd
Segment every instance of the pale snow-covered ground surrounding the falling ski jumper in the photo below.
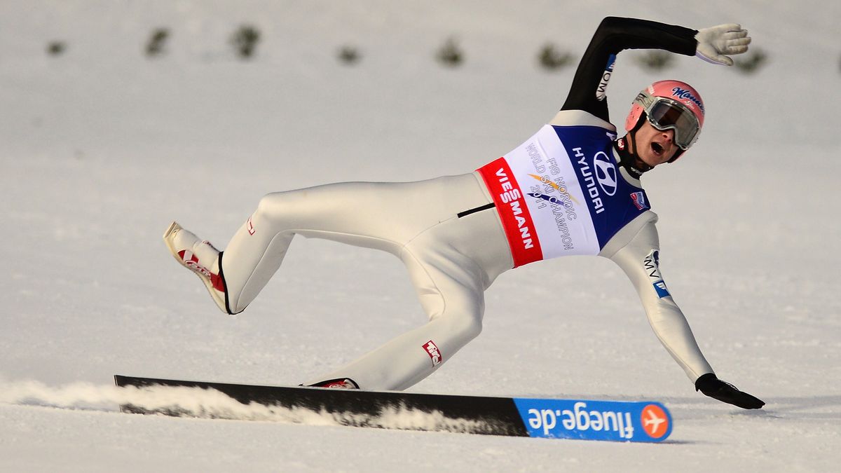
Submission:
{"label": "pale snow-covered ground surrounding the falling ski jumper", "polygon": [[[841,3],[7,1],[0,12],[0,470],[837,468]],[[696,393],[621,271],[564,258],[501,276],[483,334],[411,391],[654,399],[674,416],[665,444],[117,412],[127,395],[114,374],[291,385],[423,323],[395,258],[304,239],[248,311],[223,316],[161,233],[177,219],[224,247],[267,192],[499,157],[569,88],[573,68],[544,72],[537,50],[580,55],[607,14],[740,22],[770,55],[746,76],[684,56],[644,72],[628,51],[609,89],[616,123],[659,78],[704,94],[701,141],[644,182],[675,300],[718,374],[763,410]],[[263,38],[251,61],[228,45],[246,23]],[[161,26],[167,54],[149,59]],[[451,36],[466,55],[455,69],[432,57]],[[46,54],[52,40],[64,54]],[[341,65],[342,45],[362,61]]]}

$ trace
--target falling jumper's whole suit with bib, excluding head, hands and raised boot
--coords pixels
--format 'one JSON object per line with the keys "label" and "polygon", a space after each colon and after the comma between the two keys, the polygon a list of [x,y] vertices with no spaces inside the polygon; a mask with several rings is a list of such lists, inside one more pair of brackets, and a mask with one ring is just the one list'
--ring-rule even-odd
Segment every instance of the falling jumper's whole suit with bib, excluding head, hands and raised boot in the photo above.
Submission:
{"label": "falling jumper's whole suit with bib, excluding head, hands and raised boot", "polygon": [[220,257],[227,310],[241,312],[257,297],[295,235],[391,252],[405,263],[429,322],[304,384],[346,379],[367,390],[402,390],[479,335],[484,290],[497,276],[542,259],[599,255],[631,279],[653,331],[690,380],[712,373],[660,274],[657,215],[616,148],[604,93],[620,50],[694,55],[695,34],[605,19],[563,109],[474,173],[267,194]]}

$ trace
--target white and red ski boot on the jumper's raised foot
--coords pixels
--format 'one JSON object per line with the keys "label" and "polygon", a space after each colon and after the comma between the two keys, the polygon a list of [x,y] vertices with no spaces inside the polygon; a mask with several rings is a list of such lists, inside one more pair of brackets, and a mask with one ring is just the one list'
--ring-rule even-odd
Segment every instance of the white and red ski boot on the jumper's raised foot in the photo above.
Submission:
{"label": "white and red ski boot on the jumper's raised foot", "polygon": [[225,305],[225,279],[220,274],[220,251],[175,221],[164,232],[163,241],[178,263],[202,280],[216,306],[230,314]]}

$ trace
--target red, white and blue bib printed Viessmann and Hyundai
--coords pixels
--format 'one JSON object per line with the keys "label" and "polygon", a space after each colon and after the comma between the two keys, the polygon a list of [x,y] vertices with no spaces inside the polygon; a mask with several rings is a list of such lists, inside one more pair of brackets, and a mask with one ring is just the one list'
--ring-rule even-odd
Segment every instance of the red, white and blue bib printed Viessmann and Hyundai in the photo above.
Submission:
{"label": "red, white and blue bib printed Viessmann and Hyundai", "polygon": [[619,173],[613,138],[598,126],[544,125],[478,169],[499,211],[515,268],[598,254],[648,209],[645,191]]}

